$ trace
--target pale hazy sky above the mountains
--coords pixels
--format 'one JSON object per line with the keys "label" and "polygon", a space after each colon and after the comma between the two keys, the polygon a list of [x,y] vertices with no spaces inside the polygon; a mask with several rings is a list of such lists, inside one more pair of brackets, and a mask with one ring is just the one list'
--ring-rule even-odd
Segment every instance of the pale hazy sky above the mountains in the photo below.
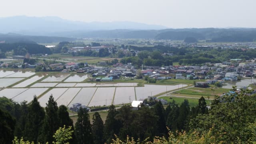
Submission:
{"label": "pale hazy sky above the mountains", "polygon": [[256,28],[256,0],[2,0],[0,17],[18,15],[169,28]]}

